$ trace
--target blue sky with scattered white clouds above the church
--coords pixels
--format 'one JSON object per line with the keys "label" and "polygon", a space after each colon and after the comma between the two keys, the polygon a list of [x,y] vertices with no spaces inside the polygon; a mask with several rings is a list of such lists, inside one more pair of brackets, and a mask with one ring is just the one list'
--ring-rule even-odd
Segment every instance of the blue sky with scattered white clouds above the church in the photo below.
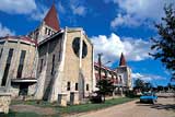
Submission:
{"label": "blue sky with scattered white clouds above the church", "polygon": [[175,0],[1,0],[0,36],[26,35],[38,26],[55,2],[60,26],[83,27],[94,45],[95,60],[112,69],[124,52],[133,79],[166,85],[170,71],[149,56],[151,37],[158,37],[154,23],[164,16],[165,4]]}

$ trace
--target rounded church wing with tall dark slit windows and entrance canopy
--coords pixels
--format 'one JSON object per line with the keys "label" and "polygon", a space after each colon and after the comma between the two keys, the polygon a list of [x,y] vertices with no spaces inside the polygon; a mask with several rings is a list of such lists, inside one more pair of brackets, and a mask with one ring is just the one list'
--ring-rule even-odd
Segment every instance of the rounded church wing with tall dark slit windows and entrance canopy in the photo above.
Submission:
{"label": "rounded church wing with tall dark slit windows and entrance canopy", "polygon": [[0,91],[12,96],[33,94],[36,84],[36,42],[26,36],[0,38]]}

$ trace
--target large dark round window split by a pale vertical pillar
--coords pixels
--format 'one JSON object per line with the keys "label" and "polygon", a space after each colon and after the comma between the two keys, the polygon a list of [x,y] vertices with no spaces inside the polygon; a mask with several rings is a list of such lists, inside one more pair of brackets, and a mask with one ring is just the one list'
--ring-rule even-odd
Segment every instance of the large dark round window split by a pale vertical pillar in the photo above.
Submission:
{"label": "large dark round window split by a pale vertical pillar", "polygon": [[[72,43],[72,48],[77,57],[80,56],[80,37],[75,37]],[[82,48],[82,58],[84,58],[88,55],[88,46],[85,42],[83,40],[83,48]]]}

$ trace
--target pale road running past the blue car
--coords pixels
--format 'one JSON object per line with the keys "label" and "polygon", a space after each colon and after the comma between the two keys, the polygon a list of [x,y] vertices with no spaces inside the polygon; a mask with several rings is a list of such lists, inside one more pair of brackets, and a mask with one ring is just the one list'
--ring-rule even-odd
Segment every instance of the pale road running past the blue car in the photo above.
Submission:
{"label": "pale road running past the blue car", "polygon": [[133,101],[72,117],[175,117],[175,97],[164,95],[159,97],[154,105],[140,104],[138,101]]}

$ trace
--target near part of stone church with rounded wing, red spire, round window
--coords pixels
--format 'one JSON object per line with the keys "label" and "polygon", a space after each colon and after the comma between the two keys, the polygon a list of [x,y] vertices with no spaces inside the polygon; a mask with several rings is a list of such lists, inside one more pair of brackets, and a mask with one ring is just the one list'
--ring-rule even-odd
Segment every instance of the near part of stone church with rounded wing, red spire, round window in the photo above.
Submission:
{"label": "near part of stone church with rounded wing, red spire, round window", "polygon": [[56,102],[93,91],[93,45],[81,27],[61,28],[55,4],[26,36],[0,38],[0,91]]}

